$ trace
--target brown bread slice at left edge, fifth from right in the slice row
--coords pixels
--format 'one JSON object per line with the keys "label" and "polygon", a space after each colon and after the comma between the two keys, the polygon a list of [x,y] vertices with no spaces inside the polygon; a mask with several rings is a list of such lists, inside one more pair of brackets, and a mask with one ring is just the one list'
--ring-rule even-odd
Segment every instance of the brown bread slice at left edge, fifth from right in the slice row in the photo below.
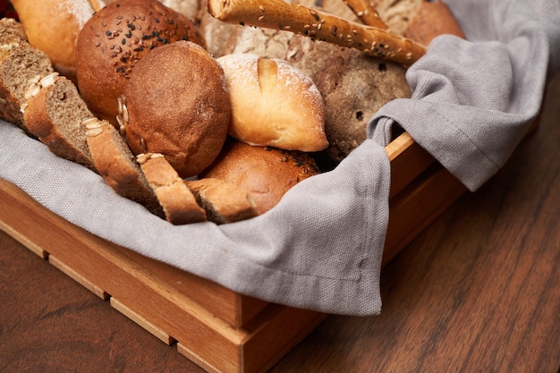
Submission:
{"label": "brown bread slice at left edge, fifth from right in the slice row", "polygon": [[48,56],[24,41],[0,47],[0,117],[29,133],[23,112],[30,88],[52,72]]}

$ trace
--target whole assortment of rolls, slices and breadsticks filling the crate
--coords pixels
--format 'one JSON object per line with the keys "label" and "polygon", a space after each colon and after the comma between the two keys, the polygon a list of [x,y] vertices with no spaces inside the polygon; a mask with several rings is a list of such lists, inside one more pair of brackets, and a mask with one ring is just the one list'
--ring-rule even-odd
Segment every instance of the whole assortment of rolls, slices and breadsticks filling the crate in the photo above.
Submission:
{"label": "whole assortment of rolls, slices and breadsticks filling the crate", "polygon": [[356,148],[380,106],[410,97],[406,67],[431,38],[462,36],[426,0],[13,5],[0,117],[174,225],[274,208],[318,160]]}

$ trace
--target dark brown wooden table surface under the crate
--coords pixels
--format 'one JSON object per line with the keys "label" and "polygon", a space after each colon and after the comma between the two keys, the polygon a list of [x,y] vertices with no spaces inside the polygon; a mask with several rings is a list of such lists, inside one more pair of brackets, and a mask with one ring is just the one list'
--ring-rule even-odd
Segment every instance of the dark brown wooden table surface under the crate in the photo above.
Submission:
{"label": "dark brown wooden table surface under the crate", "polygon": [[[539,130],[382,271],[378,317],[331,316],[272,372],[556,373],[560,74]],[[0,232],[0,372],[201,372]]]}

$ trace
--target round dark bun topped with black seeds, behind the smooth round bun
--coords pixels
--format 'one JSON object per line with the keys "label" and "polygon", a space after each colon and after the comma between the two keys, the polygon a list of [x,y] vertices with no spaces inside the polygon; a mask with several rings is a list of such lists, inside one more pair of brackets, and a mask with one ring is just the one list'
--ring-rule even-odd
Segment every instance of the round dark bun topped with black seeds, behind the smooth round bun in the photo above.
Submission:
{"label": "round dark bun topped with black seeds, behind the smooth round bun", "polygon": [[117,0],[94,14],[76,46],[78,86],[90,110],[116,125],[117,98],[134,65],[177,40],[205,46],[187,17],[156,0]]}

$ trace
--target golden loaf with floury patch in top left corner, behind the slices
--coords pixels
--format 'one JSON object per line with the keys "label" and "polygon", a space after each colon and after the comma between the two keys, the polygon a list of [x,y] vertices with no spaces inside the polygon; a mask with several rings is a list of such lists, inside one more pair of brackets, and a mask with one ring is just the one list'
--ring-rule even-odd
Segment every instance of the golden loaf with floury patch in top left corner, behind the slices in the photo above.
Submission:
{"label": "golden loaf with floury patch in top left corner, behind the slices", "polygon": [[45,52],[55,71],[75,82],[76,40],[94,13],[88,0],[12,0],[30,45]]}

